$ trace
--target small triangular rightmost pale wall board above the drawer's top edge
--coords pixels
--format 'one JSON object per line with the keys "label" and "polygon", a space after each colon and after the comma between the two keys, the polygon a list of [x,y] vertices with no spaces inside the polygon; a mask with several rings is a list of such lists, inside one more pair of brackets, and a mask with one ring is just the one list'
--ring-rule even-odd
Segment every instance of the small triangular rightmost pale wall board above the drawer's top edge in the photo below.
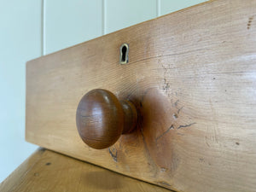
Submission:
{"label": "small triangular rightmost pale wall board above the drawer's top edge", "polygon": [[174,11],[190,7],[192,5],[207,2],[206,0],[160,0],[160,15],[166,15]]}

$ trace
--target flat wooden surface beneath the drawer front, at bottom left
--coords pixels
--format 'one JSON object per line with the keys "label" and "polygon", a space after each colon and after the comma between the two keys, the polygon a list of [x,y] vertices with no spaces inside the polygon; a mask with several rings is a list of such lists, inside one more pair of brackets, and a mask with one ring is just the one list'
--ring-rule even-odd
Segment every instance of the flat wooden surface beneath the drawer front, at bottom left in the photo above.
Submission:
{"label": "flat wooden surface beneath the drawer front, at bottom left", "polygon": [[170,190],[40,148],[0,184],[7,192]]}

